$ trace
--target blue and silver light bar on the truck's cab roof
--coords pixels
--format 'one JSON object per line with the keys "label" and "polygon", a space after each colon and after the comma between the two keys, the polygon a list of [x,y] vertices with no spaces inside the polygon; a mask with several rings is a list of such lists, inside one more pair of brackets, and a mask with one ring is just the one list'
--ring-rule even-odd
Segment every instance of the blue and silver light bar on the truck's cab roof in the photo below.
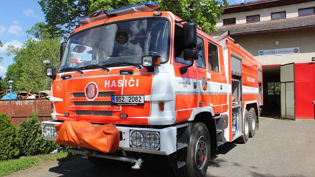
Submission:
{"label": "blue and silver light bar on the truck's cab roof", "polygon": [[[106,11],[106,13],[109,16],[110,15],[119,16],[119,15],[124,15],[124,14],[129,14],[129,13],[153,11],[153,10],[157,9],[158,7],[159,6],[158,6],[157,2],[142,2],[142,3],[138,3],[138,4],[134,4],[134,5],[129,5],[126,7],[108,10],[108,11]],[[100,15],[95,16],[95,17],[84,16],[84,17],[78,18],[78,23],[79,24],[87,24],[87,23],[90,23],[93,21],[108,18],[106,13],[103,12]]]}

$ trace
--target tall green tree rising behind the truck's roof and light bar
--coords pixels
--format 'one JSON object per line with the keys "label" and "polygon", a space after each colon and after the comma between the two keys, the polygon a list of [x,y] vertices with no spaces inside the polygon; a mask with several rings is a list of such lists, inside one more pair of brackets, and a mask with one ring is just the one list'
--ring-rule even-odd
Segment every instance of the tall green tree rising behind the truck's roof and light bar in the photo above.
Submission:
{"label": "tall green tree rising behind the truck's roof and light bar", "polygon": [[[64,35],[77,27],[77,19],[103,8],[115,9],[147,0],[40,0],[47,24]],[[161,11],[172,11],[177,16],[190,18],[205,32],[215,31],[216,18],[223,12],[226,0],[153,0]]]}

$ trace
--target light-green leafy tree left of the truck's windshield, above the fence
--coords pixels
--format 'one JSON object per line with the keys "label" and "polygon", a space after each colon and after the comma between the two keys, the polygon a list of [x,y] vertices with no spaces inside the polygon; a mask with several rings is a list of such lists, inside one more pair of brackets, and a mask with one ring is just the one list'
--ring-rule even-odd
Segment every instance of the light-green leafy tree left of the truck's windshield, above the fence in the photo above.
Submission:
{"label": "light-green leafy tree left of the truck's windshield, above the fence", "polygon": [[[28,38],[20,48],[9,45],[6,54],[15,55],[13,64],[9,65],[5,81],[14,80],[15,90],[40,91],[46,88],[45,66],[42,63],[47,59],[59,66],[59,38],[43,38],[36,41]],[[50,79],[49,79],[50,81]]]}

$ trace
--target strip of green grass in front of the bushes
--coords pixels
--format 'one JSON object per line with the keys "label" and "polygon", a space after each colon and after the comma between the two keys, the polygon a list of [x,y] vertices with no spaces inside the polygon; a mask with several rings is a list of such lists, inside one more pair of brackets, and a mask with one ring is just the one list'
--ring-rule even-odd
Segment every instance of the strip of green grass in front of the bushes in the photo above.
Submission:
{"label": "strip of green grass in front of the bushes", "polygon": [[58,152],[55,154],[25,156],[18,159],[0,161],[0,176],[11,174],[20,169],[26,169],[46,160],[64,159],[67,152]]}

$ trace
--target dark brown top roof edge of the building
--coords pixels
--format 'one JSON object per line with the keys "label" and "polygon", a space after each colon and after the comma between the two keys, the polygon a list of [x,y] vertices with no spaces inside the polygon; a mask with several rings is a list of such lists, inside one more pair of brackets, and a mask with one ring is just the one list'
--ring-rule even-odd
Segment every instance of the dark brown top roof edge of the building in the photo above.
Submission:
{"label": "dark brown top roof edge of the building", "polygon": [[255,0],[251,2],[226,5],[224,6],[224,11],[222,14],[257,10],[257,9],[262,9],[262,8],[290,5],[290,4],[302,3],[302,2],[308,2],[308,1],[313,1],[313,0]]}

